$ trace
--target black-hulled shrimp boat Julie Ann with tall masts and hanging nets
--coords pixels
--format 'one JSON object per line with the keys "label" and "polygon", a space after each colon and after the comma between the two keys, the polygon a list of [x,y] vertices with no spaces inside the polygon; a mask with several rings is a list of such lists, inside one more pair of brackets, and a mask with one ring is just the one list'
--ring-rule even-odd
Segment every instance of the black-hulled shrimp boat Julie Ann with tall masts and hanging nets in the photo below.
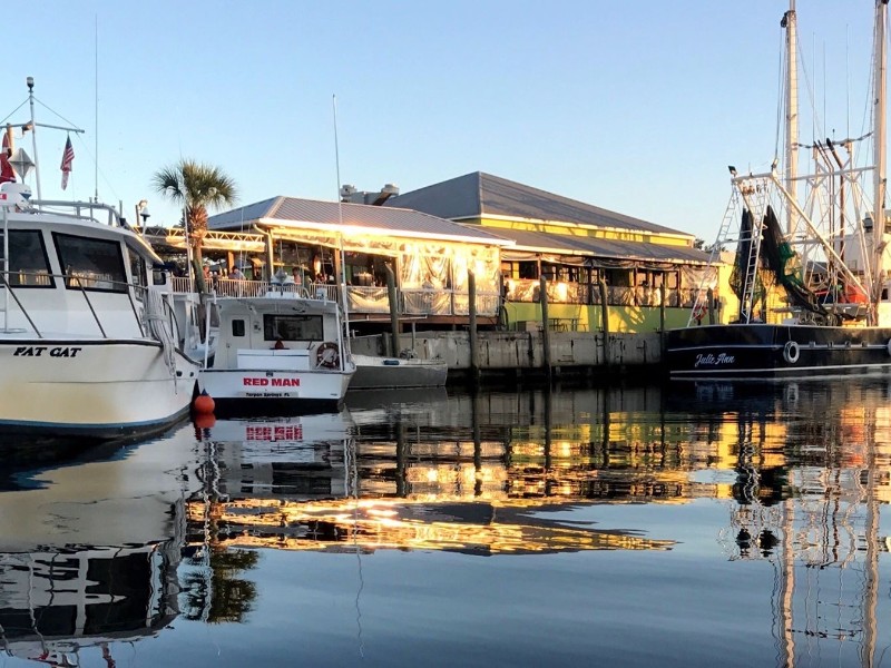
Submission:
{"label": "black-hulled shrimp boat Julie Ann with tall masts and hanging nets", "polygon": [[[730,168],[731,203],[712,255],[717,261],[723,249],[735,246],[735,259],[725,265],[728,272],[714,265],[713,283],[701,286],[687,326],[666,332],[672,379],[784,380],[891,371],[887,0],[874,7],[872,130],[859,138],[814,140],[806,147],[810,173],[802,175],[796,21],[792,0],[781,22],[784,167],[777,156],[764,174]],[[731,291],[723,294],[726,287],[715,278],[722,273],[728,274]],[[730,313],[715,317],[722,307]],[[697,326],[707,312],[719,322]]]}

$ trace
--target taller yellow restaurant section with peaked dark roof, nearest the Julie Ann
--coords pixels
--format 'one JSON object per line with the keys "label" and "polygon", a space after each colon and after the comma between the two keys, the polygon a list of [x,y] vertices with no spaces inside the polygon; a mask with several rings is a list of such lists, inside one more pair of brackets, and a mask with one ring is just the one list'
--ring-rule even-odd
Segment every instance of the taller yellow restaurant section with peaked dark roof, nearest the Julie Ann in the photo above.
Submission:
{"label": "taller yellow restaurant section with peaked dark roof, nearest the Julie Ann", "polygon": [[727,297],[717,294],[708,254],[694,247],[693,235],[489,174],[427,186],[384,206],[510,240],[501,246],[502,318],[510,328],[540,322],[541,277],[555,328],[599,328],[603,295],[611,332],[684,326],[701,289],[712,288],[716,304]]}

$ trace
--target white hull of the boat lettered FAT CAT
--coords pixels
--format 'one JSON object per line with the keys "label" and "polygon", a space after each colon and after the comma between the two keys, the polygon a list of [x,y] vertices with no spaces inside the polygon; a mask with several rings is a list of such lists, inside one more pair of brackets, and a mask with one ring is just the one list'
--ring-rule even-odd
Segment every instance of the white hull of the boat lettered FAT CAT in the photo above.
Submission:
{"label": "white hull of the boat lettered FAT CAT", "polygon": [[153,341],[0,341],[0,431],[90,439],[157,432],[189,410],[198,365]]}

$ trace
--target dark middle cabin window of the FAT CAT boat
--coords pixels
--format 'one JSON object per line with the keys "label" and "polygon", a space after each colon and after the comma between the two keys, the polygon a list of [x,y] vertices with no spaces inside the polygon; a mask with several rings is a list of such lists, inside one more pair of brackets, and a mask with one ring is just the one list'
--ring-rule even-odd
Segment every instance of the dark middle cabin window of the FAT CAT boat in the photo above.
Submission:
{"label": "dark middle cabin window of the FAT CAT boat", "polygon": [[118,242],[53,233],[59,264],[71,289],[127,292],[127,273]]}

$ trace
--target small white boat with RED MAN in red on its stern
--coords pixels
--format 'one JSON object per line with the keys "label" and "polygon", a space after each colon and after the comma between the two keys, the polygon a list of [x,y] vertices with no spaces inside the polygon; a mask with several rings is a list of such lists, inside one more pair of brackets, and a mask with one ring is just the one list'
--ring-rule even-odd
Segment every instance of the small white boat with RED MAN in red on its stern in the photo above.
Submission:
{"label": "small white boat with RED MAN in red on its stern", "polygon": [[219,328],[200,385],[217,415],[340,409],[355,364],[336,302],[273,287],[264,296],[215,297],[213,308]]}

